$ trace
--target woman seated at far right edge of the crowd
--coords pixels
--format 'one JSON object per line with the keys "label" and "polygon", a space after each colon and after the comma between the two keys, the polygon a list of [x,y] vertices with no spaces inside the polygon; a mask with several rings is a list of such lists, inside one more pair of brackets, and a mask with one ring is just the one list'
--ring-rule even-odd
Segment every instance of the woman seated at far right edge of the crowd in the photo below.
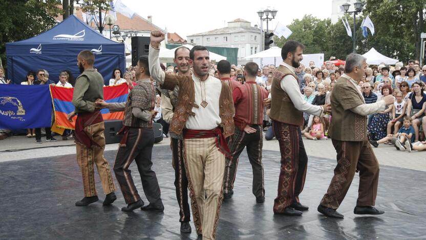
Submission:
{"label": "woman seated at far right edge of the crowd", "polygon": [[[407,115],[413,120],[412,126],[416,134],[415,142],[419,141],[419,126],[423,121],[426,110],[426,94],[423,93],[423,83],[413,83],[413,91],[408,97]],[[426,122],[425,122],[426,123]],[[426,124],[423,125],[423,132]]]}

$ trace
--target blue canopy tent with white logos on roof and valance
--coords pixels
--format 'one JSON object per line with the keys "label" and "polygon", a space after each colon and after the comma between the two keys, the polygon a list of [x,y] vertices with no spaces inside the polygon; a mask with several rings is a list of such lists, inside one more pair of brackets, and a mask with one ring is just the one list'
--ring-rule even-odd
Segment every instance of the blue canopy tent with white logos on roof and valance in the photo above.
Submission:
{"label": "blue canopy tent with white logos on roof and valance", "polygon": [[114,68],[124,73],[124,44],[104,37],[71,15],[38,36],[6,43],[8,78],[20,84],[29,70],[37,69],[46,69],[49,79],[55,82],[58,82],[59,72],[66,69],[77,77],[80,74],[77,54],[84,49],[95,54],[95,66],[107,85]]}

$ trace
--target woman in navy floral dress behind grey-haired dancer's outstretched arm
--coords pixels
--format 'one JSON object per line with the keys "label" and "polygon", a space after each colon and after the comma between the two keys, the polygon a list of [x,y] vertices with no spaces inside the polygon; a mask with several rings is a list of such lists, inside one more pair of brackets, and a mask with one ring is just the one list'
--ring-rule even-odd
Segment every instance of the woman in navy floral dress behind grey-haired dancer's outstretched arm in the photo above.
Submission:
{"label": "woman in navy floral dress behind grey-haired dancer's outstretched arm", "polygon": [[[392,94],[391,85],[384,85],[381,89],[381,94],[384,97],[389,94]],[[371,123],[367,128],[368,132],[370,133],[370,139],[377,141],[386,136],[387,126],[390,121],[389,113],[391,112],[391,110],[392,108],[386,106],[385,111],[375,113],[373,115],[373,117],[371,118]]]}

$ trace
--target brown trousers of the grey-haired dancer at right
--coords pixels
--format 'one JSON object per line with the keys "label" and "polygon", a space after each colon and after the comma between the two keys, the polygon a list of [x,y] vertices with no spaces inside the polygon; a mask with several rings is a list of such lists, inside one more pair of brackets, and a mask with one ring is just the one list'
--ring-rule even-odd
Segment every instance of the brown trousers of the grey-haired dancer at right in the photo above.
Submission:
{"label": "brown trousers of the grey-haired dancer at right", "polygon": [[377,196],[379,164],[368,141],[345,142],[332,139],[337,152],[337,166],[321,205],[337,209],[359,171],[357,206],[374,206]]}

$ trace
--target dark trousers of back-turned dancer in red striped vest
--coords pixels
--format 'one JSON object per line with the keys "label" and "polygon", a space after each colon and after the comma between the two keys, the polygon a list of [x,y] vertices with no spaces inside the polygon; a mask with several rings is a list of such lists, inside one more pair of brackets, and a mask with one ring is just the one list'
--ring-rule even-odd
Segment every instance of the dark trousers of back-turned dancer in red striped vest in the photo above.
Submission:
{"label": "dark trousers of back-turned dancer in red striped vest", "polygon": [[238,158],[247,149],[248,160],[253,171],[252,192],[254,196],[265,196],[265,186],[263,180],[262,147],[263,133],[262,125],[253,125],[257,131],[255,133],[246,133],[239,128],[235,128],[235,133],[231,136],[229,151],[232,158],[225,158],[225,174],[223,175],[223,192],[229,193],[233,189],[235,177],[237,175]]}

